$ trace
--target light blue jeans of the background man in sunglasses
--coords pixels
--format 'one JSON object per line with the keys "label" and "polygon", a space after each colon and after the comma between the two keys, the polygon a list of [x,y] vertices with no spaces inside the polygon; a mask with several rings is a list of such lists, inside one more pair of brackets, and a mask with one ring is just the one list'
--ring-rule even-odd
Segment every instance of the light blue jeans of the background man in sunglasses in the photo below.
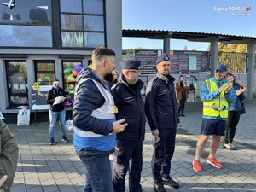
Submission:
{"label": "light blue jeans of the background man in sunglasses", "polygon": [[58,119],[61,126],[61,135],[62,137],[66,137],[65,118],[66,118],[65,109],[60,112],[49,110],[49,138],[50,139],[55,138],[55,125]]}

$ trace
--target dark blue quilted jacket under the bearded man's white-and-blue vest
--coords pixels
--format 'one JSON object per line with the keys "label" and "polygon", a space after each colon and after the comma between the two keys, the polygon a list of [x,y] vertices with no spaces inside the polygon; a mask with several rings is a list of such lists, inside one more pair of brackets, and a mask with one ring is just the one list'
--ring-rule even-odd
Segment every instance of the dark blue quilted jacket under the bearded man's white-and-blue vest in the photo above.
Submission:
{"label": "dark blue quilted jacket under the bearded man's white-and-blue vest", "polygon": [[[109,89],[108,85],[102,82],[89,68],[79,73],[77,82],[84,78],[94,79]],[[85,81],[79,86],[73,104],[73,124],[84,131],[93,131],[97,134],[108,135],[113,130],[112,123],[91,116],[92,111],[102,107],[104,102],[105,99],[100,93],[100,90],[97,89],[96,84],[92,80]]]}

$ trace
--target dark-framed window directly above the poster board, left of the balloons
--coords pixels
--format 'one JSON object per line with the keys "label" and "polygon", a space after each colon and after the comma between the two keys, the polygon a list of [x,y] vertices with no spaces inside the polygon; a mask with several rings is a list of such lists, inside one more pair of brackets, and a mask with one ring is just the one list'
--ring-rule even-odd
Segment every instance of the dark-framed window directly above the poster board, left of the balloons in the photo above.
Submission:
{"label": "dark-framed window directly above the poster board, left of the balloons", "polygon": [[55,79],[55,62],[35,61],[35,72],[40,85],[51,85]]}

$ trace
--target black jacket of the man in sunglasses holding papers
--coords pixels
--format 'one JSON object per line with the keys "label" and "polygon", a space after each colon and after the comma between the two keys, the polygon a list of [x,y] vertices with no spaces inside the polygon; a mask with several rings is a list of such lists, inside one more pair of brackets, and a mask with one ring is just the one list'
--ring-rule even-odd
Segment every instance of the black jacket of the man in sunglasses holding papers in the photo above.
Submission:
{"label": "black jacket of the man in sunglasses holding papers", "polygon": [[55,90],[55,88],[52,88],[48,92],[48,96],[46,99],[46,102],[49,104],[49,109],[55,112],[60,112],[65,108],[64,102],[60,102],[59,104],[55,104],[53,106],[53,103],[55,102],[55,98],[58,96],[64,96],[66,97],[66,93],[63,89]]}

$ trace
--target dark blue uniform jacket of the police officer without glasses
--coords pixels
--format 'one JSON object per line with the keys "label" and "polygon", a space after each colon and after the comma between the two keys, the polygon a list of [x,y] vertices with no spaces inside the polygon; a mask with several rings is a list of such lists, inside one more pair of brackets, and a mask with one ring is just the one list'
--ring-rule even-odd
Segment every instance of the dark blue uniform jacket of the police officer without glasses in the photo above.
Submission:
{"label": "dark blue uniform jacket of the police officer without glasses", "polygon": [[179,123],[174,80],[171,75],[161,79],[157,74],[148,82],[145,112],[151,130],[176,128]]}

